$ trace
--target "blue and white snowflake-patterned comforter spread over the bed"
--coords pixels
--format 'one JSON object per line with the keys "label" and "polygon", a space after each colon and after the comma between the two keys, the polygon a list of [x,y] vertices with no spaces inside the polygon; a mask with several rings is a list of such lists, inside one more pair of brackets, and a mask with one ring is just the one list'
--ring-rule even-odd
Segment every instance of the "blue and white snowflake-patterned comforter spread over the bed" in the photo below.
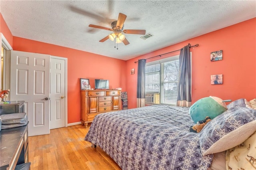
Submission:
{"label": "blue and white snowflake-patterned comforter spread over the bed", "polygon": [[84,140],[100,146],[123,170],[206,170],[199,133],[187,107],[152,105],[97,115]]}

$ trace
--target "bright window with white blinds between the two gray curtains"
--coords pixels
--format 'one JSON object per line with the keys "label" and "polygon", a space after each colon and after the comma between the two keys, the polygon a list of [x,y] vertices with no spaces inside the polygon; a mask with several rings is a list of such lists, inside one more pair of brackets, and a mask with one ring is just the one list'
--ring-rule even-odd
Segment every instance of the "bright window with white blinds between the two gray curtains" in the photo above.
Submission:
{"label": "bright window with white blinds between the two gray curtains", "polygon": [[153,103],[154,93],[160,94],[160,103],[176,105],[178,95],[179,56],[146,63],[145,100]]}

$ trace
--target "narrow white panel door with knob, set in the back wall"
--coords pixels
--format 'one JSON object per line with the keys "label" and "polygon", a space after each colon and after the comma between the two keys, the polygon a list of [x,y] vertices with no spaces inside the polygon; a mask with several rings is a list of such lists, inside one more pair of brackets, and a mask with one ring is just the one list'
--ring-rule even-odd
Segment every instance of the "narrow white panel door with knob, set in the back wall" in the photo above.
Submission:
{"label": "narrow white panel door with knob, set in the back wall", "polygon": [[61,57],[50,59],[50,129],[65,127],[65,63]]}

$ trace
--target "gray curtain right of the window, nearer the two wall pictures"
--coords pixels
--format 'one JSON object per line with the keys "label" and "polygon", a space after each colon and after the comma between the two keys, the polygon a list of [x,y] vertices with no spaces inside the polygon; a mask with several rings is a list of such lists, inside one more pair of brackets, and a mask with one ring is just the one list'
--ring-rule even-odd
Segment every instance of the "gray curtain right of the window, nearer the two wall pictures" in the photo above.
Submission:
{"label": "gray curtain right of the window, nearer the two wall pictures", "polygon": [[180,69],[178,81],[177,106],[191,106],[191,66],[190,47],[186,45],[180,50]]}

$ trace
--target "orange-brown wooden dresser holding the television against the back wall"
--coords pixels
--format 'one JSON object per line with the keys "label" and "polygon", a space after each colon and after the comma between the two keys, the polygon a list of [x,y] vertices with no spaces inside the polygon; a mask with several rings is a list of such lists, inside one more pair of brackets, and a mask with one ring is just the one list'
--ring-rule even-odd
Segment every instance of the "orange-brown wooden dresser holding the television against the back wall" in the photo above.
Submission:
{"label": "orange-brown wooden dresser holding the television against the back wall", "polygon": [[87,127],[100,113],[121,110],[121,90],[81,90],[81,123]]}

